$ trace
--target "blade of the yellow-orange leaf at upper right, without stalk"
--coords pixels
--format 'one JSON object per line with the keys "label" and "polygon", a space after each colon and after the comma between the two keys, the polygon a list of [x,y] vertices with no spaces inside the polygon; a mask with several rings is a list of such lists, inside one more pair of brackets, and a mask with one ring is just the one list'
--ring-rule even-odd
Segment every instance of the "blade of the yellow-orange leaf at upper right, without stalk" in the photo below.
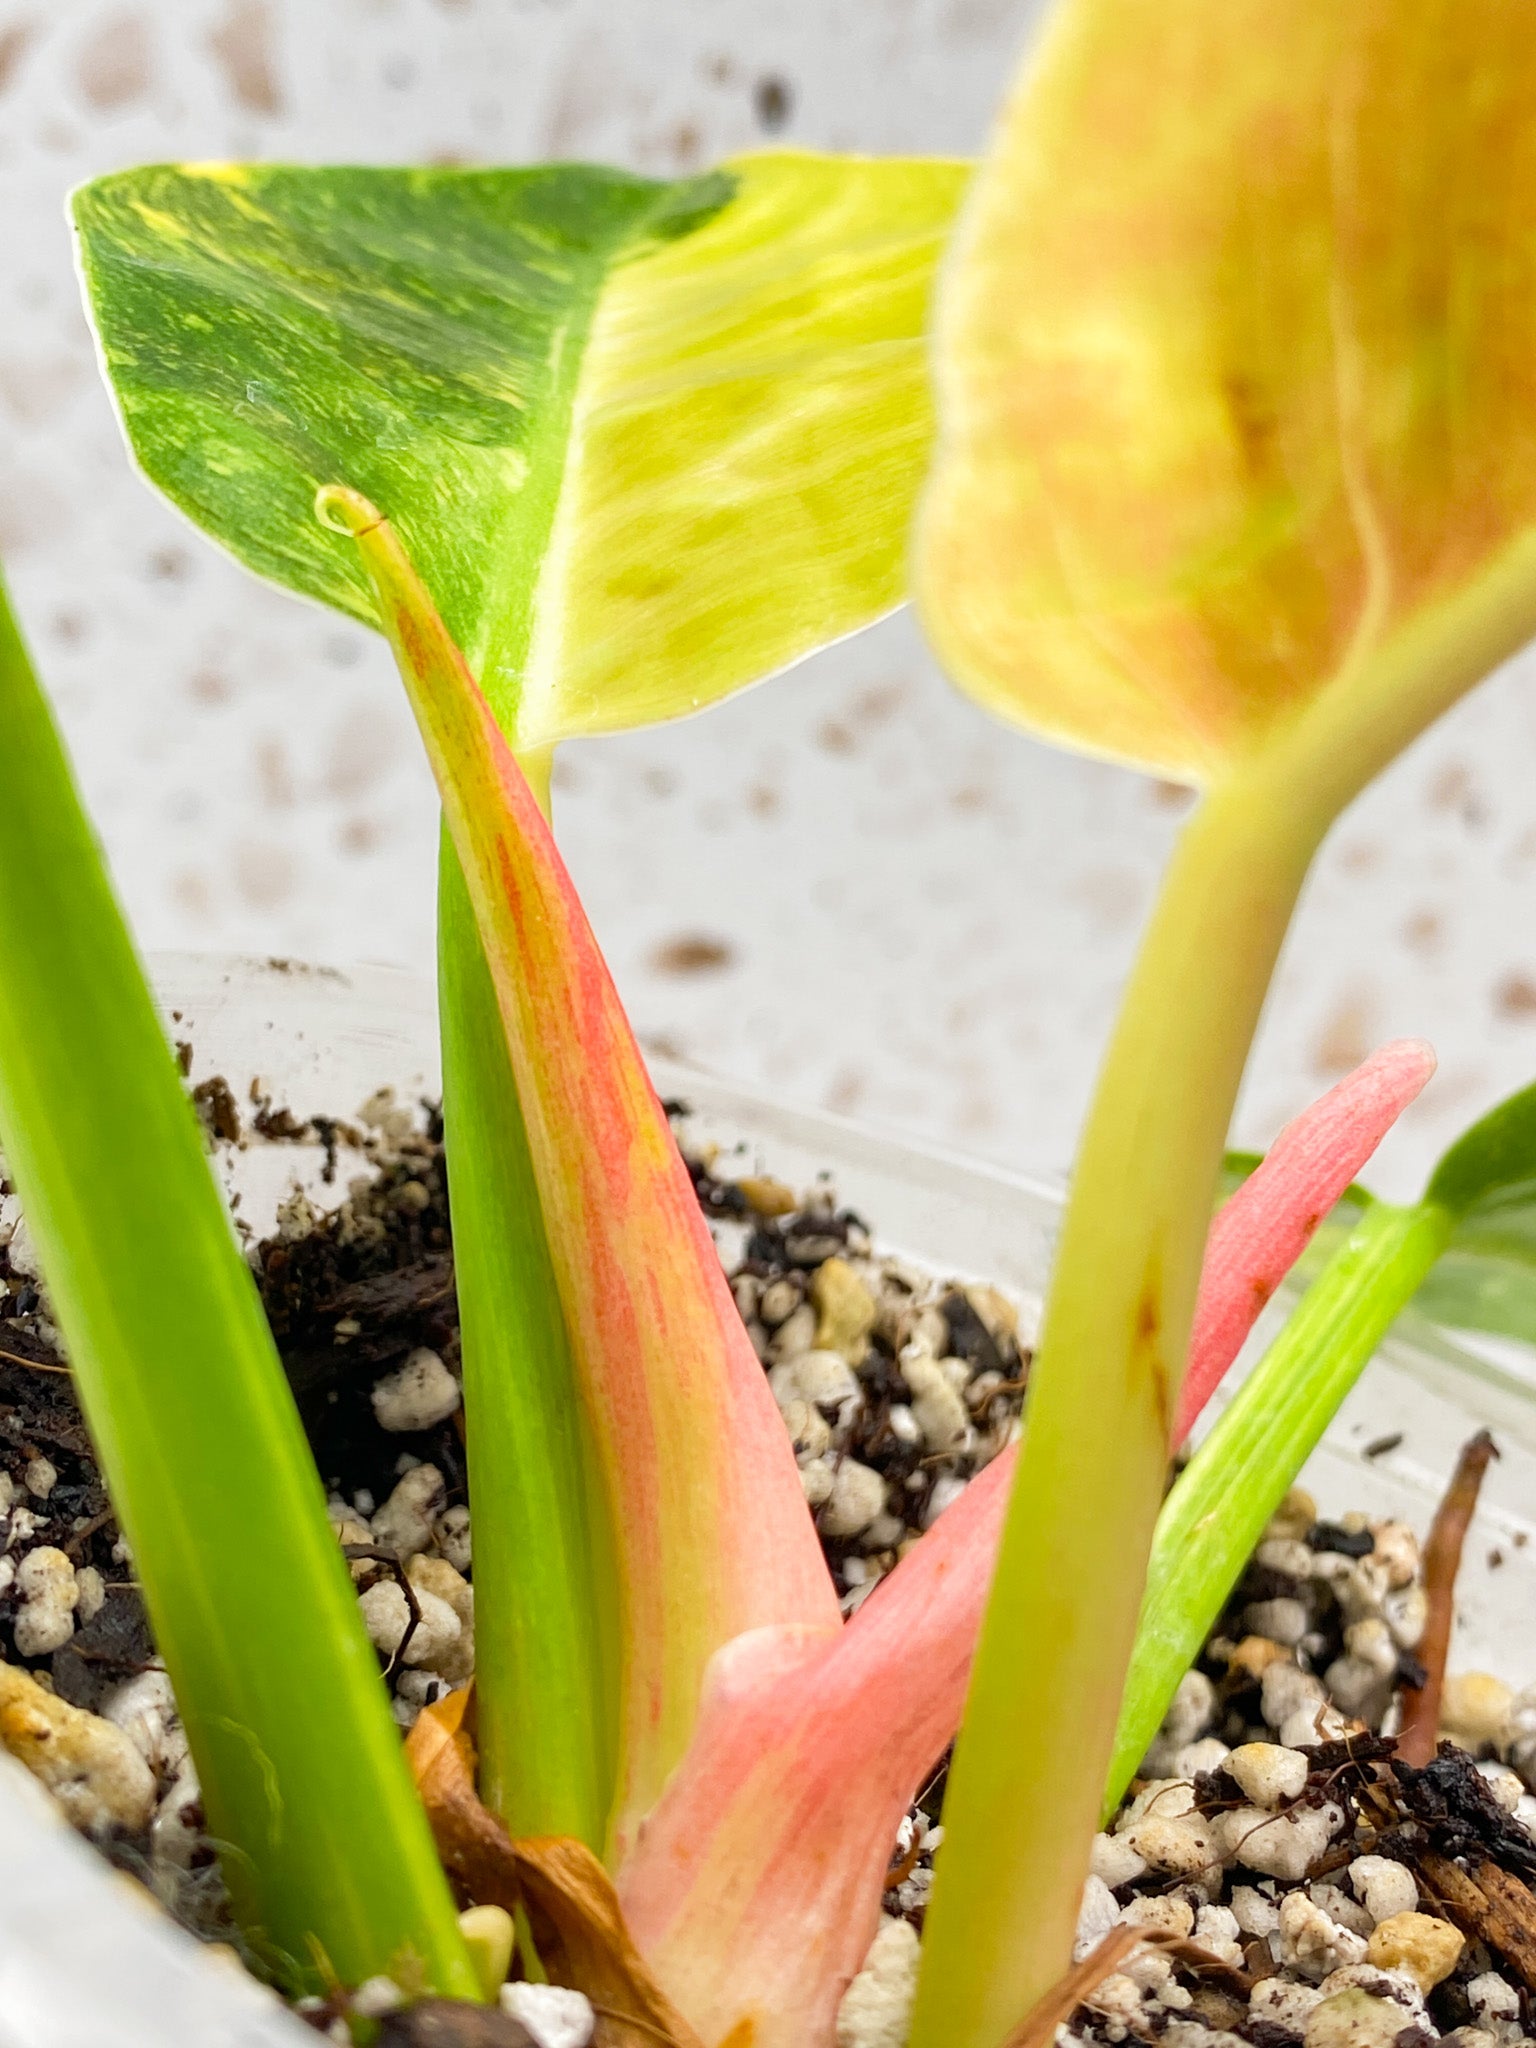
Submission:
{"label": "blade of the yellow-orange leaf at upper right, without stalk", "polygon": [[940,313],[958,682],[1204,780],[1536,629],[1534,100],[1520,0],[1067,0]]}

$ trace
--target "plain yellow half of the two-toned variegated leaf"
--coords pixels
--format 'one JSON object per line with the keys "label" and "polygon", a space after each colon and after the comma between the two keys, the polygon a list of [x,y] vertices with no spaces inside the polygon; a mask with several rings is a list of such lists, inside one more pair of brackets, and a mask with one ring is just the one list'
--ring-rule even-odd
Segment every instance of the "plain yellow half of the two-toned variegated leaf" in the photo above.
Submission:
{"label": "plain yellow half of the two-toned variegated leaf", "polygon": [[594,315],[520,745],[696,711],[905,596],[967,166],[727,170],[731,203],[618,268]]}

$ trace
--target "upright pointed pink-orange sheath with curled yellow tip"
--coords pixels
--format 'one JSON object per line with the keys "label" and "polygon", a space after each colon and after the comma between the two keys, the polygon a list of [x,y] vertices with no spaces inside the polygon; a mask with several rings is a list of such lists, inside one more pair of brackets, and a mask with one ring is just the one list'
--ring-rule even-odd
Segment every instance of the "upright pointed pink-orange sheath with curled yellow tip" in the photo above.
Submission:
{"label": "upright pointed pink-orange sheath with curled yellow tip", "polygon": [[356,492],[350,530],[412,698],[496,985],[575,1370],[608,1493],[621,1608],[614,1841],[655,1804],[721,1645],[836,1628],[758,1354],[543,811],[424,584]]}

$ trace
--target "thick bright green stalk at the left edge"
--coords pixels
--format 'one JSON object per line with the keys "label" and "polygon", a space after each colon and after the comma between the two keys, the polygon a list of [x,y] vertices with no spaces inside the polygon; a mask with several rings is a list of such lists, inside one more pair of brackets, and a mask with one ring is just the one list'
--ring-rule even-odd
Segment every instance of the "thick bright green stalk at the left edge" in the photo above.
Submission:
{"label": "thick bright green stalk at the left edge", "polygon": [[477,1997],[260,1300],[0,594],[0,1135],[238,1915]]}

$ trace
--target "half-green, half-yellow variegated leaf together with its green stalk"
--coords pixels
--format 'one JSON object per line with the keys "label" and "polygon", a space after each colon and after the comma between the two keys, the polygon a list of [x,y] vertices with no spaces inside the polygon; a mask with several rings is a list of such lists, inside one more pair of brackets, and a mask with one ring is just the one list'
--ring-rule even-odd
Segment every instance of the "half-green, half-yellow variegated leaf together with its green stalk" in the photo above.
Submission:
{"label": "half-green, half-yellow variegated leaf together with its green stalk", "polygon": [[[692,711],[901,598],[963,182],[817,156],[670,184],[160,166],[86,186],[76,223],[145,473],[250,567],[375,621],[313,518],[317,487],[367,494],[547,780],[563,735]],[[440,907],[481,1790],[516,1833],[600,1847],[629,1552],[551,1262],[565,1196],[535,1176],[453,852]],[[696,1673],[666,1667],[676,1737]]]}

